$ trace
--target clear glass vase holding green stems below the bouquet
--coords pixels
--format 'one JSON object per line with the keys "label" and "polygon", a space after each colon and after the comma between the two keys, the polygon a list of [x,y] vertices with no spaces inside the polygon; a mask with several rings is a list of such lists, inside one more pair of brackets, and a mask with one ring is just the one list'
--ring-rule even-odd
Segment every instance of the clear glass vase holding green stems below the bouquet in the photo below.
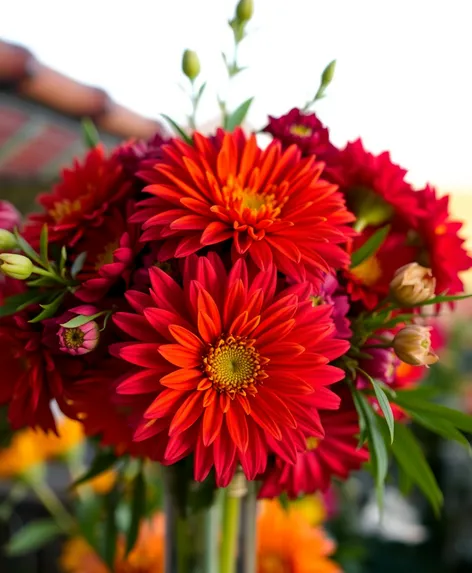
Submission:
{"label": "clear glass vase holding green stems below the bouquet", "polygon": [[255,573],[254,484],[237,474],[225,489],[163,468],[165,573]]}

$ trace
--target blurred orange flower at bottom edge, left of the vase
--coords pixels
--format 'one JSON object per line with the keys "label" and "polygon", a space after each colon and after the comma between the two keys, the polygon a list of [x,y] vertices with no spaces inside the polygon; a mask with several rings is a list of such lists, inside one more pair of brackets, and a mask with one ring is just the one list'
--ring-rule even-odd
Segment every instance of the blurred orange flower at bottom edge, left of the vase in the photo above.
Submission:
{"label": "blurred orange flower at bottom edge, left of the vase", "polygon": [[[59,563],[63,573],[110,573],[100,557],[80,537],[73,537],[64,544]],[[124,540],[119,540],[114,573],[163,572],[164,516],[156,514],[141,526],[138,541],[127,558]]]}

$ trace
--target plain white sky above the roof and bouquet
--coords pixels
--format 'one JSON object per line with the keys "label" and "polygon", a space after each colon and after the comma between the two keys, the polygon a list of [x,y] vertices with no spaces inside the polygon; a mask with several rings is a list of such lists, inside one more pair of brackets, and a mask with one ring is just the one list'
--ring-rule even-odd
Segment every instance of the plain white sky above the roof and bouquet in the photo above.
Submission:
{"label": "plain white sky above the roof and bouquet", "polygon": [[[210,88],[199,120],[218,113],[225,86],[220,56],[233,0],[3,0],[0,37],[117,101],[184,121],[177,87],[181,53],[197,50]],[[328,98],[316,110],[344,144],[362,135],[390,149],[418,185],[472,194],[472,0],[255,0],[250,64],[231,85],[230,105],[255,95],[249,115],[303,105],[331,59]],[[222,88],[220,88],[221,90]],[[220,91],[222,93],[222,91]]]}

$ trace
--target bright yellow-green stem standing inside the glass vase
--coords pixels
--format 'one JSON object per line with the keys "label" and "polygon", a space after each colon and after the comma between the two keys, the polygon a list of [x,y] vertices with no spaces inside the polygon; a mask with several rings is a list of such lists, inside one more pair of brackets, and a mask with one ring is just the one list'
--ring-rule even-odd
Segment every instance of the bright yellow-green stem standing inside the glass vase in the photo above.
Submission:
{"label": "bright yellow-green stem standing inside the glass vase", "polygon": [[242,490],[242,485],[245,486],[244,475],[237,473],[233,481],[223,492],[220,573],[235,573],[236,571],[241,496],[245,493],[245,491]]}

